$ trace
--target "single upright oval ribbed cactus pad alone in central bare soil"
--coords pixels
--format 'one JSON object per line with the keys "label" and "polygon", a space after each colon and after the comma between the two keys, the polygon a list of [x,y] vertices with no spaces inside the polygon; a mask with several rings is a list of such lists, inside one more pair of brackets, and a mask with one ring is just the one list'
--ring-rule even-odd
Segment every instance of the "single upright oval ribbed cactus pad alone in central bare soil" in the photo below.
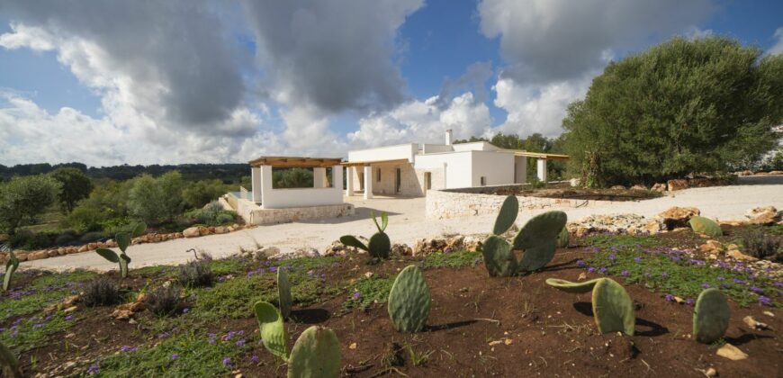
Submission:
{"label": "single upright oval ribbed cactus pad alone in central bare soil", "polygon": [[389,317],[400,332],[419,332],[429,316],[429,286],[419,266],[407,266],[392,284]]}

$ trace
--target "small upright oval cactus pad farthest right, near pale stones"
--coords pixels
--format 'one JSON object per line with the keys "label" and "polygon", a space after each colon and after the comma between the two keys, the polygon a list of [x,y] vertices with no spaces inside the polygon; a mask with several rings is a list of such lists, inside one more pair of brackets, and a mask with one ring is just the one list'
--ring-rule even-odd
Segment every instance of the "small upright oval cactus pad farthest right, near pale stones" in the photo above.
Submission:
{"label": "small upright oval cactus pad farthest right, near pale stones", "polygon": [[693,336],[700,343],[716,342],[724,337],[730,316],[723,293],[714,288],[701,292],[693,309]]}

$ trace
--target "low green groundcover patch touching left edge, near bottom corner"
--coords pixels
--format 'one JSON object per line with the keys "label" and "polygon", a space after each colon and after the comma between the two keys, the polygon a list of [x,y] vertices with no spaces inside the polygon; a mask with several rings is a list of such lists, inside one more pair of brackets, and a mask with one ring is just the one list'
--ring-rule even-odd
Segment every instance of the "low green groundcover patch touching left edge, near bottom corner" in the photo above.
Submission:
{"label": "low green groundcover patch touching left edge, near bottom corner", "polygon": [[74,321],[62,311],[44,316],[20,318],[0,332],[0,341],[20,354],[49,344],[49,336],[71,327]]}

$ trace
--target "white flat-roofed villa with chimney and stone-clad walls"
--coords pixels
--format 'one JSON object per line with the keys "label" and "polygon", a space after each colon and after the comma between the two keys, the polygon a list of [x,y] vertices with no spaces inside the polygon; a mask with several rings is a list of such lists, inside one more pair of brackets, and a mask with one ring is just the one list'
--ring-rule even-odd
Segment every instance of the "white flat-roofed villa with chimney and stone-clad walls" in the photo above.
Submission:
{"label": "white flat-roofed villa with chimney and stone-clad walls", "polygon": [[446,130],[445,144],[406,143],[348,152],[346,195],[364,193],[423,196],[430,189],[525,184],[527,158],[537,159],[538,179],[546,182],[546,161],[567,155],[505,149],[490,142],[452,143]]}

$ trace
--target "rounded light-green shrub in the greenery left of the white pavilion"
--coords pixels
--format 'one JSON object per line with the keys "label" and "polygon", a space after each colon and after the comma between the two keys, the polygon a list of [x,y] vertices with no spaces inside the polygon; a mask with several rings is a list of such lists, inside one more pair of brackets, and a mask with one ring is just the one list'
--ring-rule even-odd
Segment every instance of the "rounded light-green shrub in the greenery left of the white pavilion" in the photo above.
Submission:
{"label": "rounded light-green shrub in the greenery left of the white pavilion", "polygon": [[182,175],[167,172],[154,178],[141,175],[133,180],[128,196],[130,215],[151,224],[174,220],[183,209]]}

